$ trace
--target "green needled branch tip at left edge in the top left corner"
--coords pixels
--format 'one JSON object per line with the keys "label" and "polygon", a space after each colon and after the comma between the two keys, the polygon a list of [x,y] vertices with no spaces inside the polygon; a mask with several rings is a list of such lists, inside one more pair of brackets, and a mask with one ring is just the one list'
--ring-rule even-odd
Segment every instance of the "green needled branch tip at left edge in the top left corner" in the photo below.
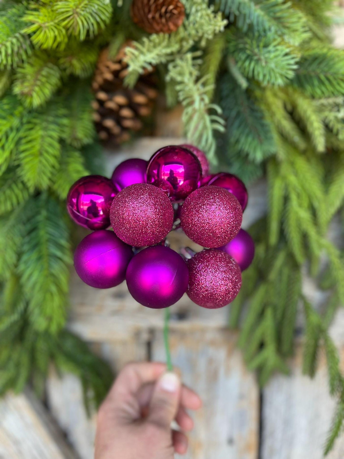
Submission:
{"label": "green needled branch tip at left edge in the top left corner", "polygon": [[25,4],[0,11],[0,70],[17,67],[31,55],[31,43],[23,34]]}

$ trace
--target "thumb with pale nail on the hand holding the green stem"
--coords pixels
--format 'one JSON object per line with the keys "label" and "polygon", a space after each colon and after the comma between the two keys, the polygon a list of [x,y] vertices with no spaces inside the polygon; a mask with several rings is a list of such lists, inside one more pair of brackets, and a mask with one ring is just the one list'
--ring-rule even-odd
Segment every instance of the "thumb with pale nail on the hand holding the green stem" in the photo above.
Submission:
{"label": "thumb with pale nail on the hand holding the green stem", "polygon": [[175,373],[165,373],[157,381],[150,401],[148,420],[163,428],[170,428],[180,399],[181,383]]}

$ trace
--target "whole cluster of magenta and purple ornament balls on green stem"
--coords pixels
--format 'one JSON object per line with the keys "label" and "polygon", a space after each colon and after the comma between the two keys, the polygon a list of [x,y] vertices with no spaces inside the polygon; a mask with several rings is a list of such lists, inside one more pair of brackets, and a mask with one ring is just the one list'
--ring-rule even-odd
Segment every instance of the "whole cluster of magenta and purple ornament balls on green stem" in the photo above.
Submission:
{"label": "whole cluster of magenta and purple ornament balls on green stem", "polygon": [[[67,208],[96,231],[78,245],[75,269],[96,288],[126,279],[149,308],[167,308],[185,292],[202,307],[221,308],[239,293],[241,271],[254,257],[254,242],[240,229],[247,199],[238,177],[209,175],[204,152],[191,145],[163,147],[148,162],[128,159],[111,180],[83,177],[72,185]],[[185,260],[165,246],[179,226],[207,249]]]}

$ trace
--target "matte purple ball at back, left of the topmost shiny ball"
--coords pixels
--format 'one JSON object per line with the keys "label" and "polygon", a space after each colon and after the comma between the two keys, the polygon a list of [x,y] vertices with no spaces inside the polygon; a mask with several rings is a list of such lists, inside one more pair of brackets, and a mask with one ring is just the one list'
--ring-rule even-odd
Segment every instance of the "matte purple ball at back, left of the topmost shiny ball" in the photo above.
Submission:
{"label": "matte purple ball at back, left of the topmost shiny ball", "polygon": [[147,161],[144,161],[144,159],[127,159],[118,164],[113,171],[112,183],[117,191],[122,191],[123,188],[134,183],[145,183],[147,181],[146,169]]}

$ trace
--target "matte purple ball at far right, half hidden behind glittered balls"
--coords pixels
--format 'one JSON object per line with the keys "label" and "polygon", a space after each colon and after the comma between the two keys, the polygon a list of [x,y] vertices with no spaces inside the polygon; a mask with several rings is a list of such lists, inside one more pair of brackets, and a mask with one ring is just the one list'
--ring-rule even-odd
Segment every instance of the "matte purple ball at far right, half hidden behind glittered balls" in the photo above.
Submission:
{"label": "matte purple ball at far right, half hidden behind glittered balls", "polygon": [[229,241],[225,246],[219,247],[219,249],[233,257],[242,271],[250,266],[255,256],[255,243],[244,229],[240,229],[232,241]]}

